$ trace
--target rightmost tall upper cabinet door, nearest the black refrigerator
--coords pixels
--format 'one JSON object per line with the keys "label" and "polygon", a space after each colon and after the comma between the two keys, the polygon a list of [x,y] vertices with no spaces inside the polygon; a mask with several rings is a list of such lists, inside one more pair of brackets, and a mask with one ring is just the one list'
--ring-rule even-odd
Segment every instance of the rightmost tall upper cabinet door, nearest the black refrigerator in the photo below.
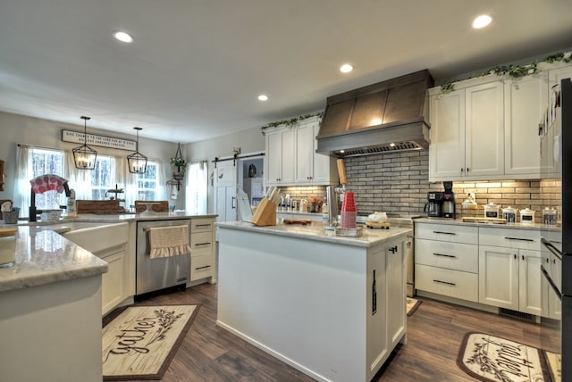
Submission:
{"label": "rightmost tall upper cabinet door, nearest the black refrigerator", "polygon": [[540,177],[538,122],[548,104],[547,87],[546,73],[509,80],[505,83],[506,175]]}

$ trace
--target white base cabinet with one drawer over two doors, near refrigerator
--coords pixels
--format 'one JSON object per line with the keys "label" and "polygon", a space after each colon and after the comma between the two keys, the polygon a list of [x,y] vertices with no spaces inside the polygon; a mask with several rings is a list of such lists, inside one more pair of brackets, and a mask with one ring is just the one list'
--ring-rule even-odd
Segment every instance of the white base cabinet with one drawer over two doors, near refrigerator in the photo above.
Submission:
{"label": "white base cabinet with one drawer over two doors, near refrigerator", "polygon": [[541,262],[538,231],[479,228],[479,303],[545,315]]}

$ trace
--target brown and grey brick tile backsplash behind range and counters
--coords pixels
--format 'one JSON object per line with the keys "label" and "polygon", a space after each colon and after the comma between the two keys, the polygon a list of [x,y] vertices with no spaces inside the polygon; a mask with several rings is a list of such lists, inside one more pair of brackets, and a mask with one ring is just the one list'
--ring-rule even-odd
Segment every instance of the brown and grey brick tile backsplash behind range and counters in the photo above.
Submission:
{"label": "brown and grey brick tile backsplash behind range and counters", "polygon": [[[351,157],[344,164],[346,187],[355,193],[358,213],[423,214],[427,192],[443,189],[442,183],[428,181],[428,150]],[[474,192],[481,211],[491,202],[518,210],[530,208],[536,211],[537,222],[542,220],[544,207],[559,206],[559,187],[557,180],[538,179],[453,182],[458,216],[460,203]],[[282,187],[282,192],[294,199],[324,197],[325,187]],[[550,205],[554,200],[558,205]]]}

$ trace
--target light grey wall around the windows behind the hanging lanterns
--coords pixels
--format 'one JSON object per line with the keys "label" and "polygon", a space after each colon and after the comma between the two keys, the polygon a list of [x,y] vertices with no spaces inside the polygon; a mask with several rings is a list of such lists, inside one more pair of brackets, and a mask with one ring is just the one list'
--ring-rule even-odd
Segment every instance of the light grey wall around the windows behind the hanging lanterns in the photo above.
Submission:
{"label": "light grey wall around the windows behind the hanging lanterns", "polygon": [[[50,148],[71,150],[80,145],[77,143],[62,142],[62,129],[83,131],[83,121],[78,116],[78,125],[55,122],[54,120],[40,120],[17,114],[0,112],[0,160],[4,161],[5,185],[0,191],[0,199],[13,199],[13,185],[15,178],[16,145],[38,145]],[[144,128],[145,129],[145,128]],[[132,127],[125,127],[125,134],[116,131],[92,129],[88,133],[107,137],[119,137],[135,140]],[[172,137],[176,141],[176,137]],[[125,150],[114,150],[107,147],[94,146],[99,154],[128,155]],[[149,159],[164,162],[165,181],[172,178],[172,166],[169,158],[174,156],[177,144],[156,139],[139,137],[139,152],[147,155]],[[71,185],[72,187],[72,185]],[[165,195],[170,195],[165,185]],[[175,202],[177,208],[184,208],[184,186],[181,187],[179,198]]]}

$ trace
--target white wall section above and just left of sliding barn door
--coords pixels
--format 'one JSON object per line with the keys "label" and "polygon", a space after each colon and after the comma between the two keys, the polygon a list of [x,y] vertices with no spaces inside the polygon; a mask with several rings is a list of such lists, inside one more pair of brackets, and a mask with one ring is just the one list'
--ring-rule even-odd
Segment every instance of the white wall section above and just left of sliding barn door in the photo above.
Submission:
{"label": "white wall section above and just left of sliding barn door", "polygon": [[[265,151],[265,136],[260,128],[252,128],[228,136],[206,139],[185,145],[185,154],[190,162],[208,161],[208,212],[214,212],[213,183],[214,158],[232,156],[232,149],[240,147],[241,154]],[[262,170],[262,169],[261,169]]]}

